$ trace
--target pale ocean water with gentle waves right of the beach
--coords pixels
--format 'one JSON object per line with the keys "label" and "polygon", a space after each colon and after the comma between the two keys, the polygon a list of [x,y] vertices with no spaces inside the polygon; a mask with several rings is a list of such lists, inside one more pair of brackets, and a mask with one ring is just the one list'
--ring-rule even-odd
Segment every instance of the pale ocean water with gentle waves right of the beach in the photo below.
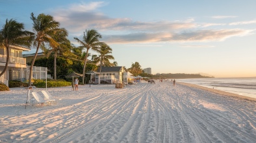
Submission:
{"label": "pale ocean water with gentle waves right of the beach", "polygon": [[256,98],[255,78],[193,78],[177,79],[177,82],[186,82],[203,87],[214,88],[220,91],[235,93],[242,96]]}

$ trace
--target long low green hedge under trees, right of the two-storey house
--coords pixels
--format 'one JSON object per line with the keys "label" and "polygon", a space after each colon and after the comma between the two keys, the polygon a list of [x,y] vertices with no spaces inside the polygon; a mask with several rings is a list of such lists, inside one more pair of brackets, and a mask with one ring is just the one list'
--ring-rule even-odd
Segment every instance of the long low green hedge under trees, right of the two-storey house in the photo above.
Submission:
{"label": "long low green hedge under trees, right of the two-storey house", "polygon": [[[34,86],[38,88],[45,88],[45,80],[34,80]],[[72,85],[71,82],[66,82],[63,80],[47,80],[47,87],[66,87]]]}

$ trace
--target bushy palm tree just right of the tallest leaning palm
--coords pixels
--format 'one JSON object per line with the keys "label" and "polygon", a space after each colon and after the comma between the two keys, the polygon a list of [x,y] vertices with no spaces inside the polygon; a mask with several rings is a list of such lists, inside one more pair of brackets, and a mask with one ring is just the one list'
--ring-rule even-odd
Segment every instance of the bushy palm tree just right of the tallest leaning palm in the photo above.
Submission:
{"label": "bushy palm tree just right of the tallest leaning palm", "polygon": [[57,65],[56,65],[56,59],[57,59],[57,53],[58,54],[62,54],[62,55],[66,55],[68,56],[69,54],[71,54],[70,49],[71,49],[71,44],[70,41],[67,38],[68,36],[68,31],[65,28],[60,28],[60,30],[58,30],[55,34],[53,34],[52,38],[57,41],[58,45],[51,45],[52,49],[46,49],[44,47],[42,47],[42,50],[44,50],[45,54],[47,54],[47,56],[49,56],[49,54],[51,54],[52,52],[54,52],[54,61],[53,61],[53,65],[54,65],[54,69],[53,69],[53,77],[55,80],[57,80],[57,75],[56,75],[56,71],[57,71]]}

